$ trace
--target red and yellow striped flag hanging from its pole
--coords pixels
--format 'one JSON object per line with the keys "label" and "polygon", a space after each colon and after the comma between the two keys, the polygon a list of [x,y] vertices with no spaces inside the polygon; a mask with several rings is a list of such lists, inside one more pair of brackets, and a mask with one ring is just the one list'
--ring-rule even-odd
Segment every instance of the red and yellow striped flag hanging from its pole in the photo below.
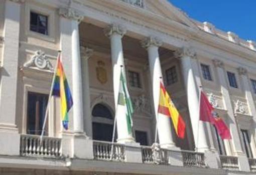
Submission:
{"label": "red and yellow striped flag hanging from its pole", "polygon": [[160,82],[158,113],[171,117],[176,134],[178,135],[178,137],[184,138],[186,124],[182,116],[179,114],[177,108],[173,104],[162,82]]}

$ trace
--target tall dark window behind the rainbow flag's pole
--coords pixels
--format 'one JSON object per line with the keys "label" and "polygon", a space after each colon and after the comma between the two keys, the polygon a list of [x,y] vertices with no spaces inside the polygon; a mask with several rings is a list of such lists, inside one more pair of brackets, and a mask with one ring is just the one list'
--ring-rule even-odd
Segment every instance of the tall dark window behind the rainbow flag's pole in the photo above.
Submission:
{"label": "tall dark window behind the rainbow flag's pole", "polygon": [[[43,128],[48,95],[34,92],[28,93],[27,133],[40,135]],[[47,123],[47,122],[46,122]],[[47,125],[46,131],[47,133]]]}

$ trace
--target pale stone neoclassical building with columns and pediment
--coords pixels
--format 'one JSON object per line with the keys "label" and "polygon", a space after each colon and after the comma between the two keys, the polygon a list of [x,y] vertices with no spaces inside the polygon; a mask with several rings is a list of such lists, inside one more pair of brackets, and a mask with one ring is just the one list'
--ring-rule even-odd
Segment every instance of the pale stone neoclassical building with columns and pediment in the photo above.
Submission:
{"label": "pale stone neoclassical building with columns and pediment", "polygon": [[[68,130],[49,97],[59,50],[74,101]],[[0,174],[253,174],[255,60],[253,41],[166,0],[0,1]],[[134,125],[128,137],[117,120],[112,144],[120,66]],[[184,139],[170,118],[156,122],[160,81]],[[200,90],[231,140],[199,122]]]}

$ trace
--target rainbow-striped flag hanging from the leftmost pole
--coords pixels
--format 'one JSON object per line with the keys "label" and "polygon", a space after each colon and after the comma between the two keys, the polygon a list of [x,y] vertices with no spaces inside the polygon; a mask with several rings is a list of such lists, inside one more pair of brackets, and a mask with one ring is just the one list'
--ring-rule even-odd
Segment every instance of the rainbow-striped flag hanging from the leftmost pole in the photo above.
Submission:
{"label": "rainbow-striped flag hanging from the leftmost pole", "polygon": [[60,60],[60,54],[57,59],[57,69],[54,77],[53,96],[60,97],[62,125],[68,129],[68,111],[73,106],[72,95]]}

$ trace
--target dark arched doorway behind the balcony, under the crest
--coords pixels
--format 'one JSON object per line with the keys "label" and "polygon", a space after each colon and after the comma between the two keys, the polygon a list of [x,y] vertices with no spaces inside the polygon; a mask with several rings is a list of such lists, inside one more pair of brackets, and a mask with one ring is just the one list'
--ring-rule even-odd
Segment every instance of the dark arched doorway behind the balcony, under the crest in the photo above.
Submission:
{"label": "dark arched doorway behind the balcony, under the crest", "polygon": [[92,138],[111,141],[113,133],[113,115],[109,107],[96,104],[92,109]]}

